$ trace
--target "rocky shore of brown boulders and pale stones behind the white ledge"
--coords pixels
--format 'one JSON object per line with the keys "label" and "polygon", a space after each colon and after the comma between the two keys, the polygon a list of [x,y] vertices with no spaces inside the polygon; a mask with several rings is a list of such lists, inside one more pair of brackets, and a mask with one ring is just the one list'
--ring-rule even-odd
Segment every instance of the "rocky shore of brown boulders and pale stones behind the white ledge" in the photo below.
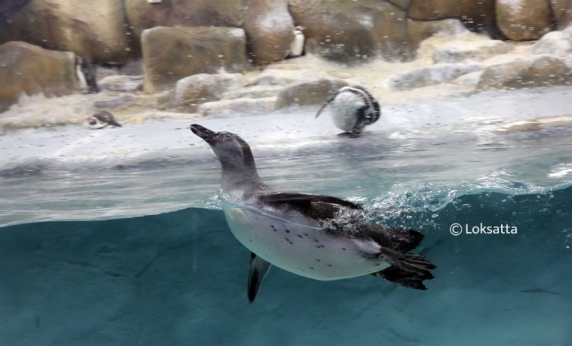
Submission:
{"label": "rocky shore of brown boulders and pale stones behind the white ledge", "polygon": [[[382,104],[572,83],[572,1],[0,5],[0,129],[267,114],[359,84]],[[303,57],[285,59],[294,26]],[[85,90],[75,57],[97,67]]]}

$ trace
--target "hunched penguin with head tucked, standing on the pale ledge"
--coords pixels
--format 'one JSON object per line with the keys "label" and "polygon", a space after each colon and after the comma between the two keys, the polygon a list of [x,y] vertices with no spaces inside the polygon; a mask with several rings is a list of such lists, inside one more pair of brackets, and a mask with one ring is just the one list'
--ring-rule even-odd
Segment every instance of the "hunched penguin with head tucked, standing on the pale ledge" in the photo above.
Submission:
{"label": "hunched penguin with head tucked, standing on the pale ledge", "polygon": [[316,118],[327,105],[331,107],[332,120],[337,128],[345,132],[339,136],[357,137],[362,129],[371,125],[382,115],[379,103],[360,86],[345,86],[337,90],[321,108]]}

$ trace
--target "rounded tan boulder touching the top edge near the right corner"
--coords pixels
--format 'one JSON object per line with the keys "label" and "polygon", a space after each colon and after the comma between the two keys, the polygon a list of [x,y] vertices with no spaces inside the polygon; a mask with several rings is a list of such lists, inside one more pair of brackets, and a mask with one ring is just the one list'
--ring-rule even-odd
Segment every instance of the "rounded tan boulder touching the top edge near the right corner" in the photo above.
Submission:
{"label": "rounded tan boulder touching the top edge near the right corner", "polygon": [[497,0],[497,25],[513,41],[540,39],[551,30],[550,1]]}

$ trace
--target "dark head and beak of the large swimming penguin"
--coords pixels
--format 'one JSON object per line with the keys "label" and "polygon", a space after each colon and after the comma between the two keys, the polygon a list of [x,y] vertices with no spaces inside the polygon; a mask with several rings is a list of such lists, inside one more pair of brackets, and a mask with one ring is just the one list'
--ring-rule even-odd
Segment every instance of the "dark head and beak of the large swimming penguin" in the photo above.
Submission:
{"label": "dark head and beak of the large swimming penguin", "polygon": [[223,166],[255,167],[253,152],[244,139],[231,132],[214,132],[201,125],[190,125],[190,130],[206,141]]}

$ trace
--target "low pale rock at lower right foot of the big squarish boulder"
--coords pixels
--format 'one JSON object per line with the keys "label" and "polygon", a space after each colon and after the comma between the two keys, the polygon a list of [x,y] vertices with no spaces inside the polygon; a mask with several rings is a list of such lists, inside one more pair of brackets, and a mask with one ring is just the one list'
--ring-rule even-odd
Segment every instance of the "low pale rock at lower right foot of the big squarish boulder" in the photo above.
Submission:
{"label": "low pale rock at lower right foot of the big squarish boulder", "polygon": [[224,92],[236,90],[244,85],[242,74],[195,74],[177,81],[175,106],[195,112],[197,105],[219,100]]}

